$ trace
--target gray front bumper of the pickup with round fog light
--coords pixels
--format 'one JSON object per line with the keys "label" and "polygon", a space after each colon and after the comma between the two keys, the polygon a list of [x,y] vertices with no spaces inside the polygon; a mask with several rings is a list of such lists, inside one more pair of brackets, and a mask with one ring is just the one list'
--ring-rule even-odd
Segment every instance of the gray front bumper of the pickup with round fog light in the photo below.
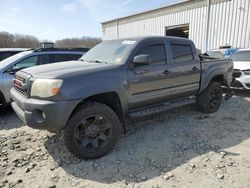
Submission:
{"label": "gray front bumper of the pickup with round fog light", "polygon": [[11,106],[18,117],[29,127],[49,131],[65,127],[74,108],[81,100],[46,101],[28,99],[15,89],[11,90]]}

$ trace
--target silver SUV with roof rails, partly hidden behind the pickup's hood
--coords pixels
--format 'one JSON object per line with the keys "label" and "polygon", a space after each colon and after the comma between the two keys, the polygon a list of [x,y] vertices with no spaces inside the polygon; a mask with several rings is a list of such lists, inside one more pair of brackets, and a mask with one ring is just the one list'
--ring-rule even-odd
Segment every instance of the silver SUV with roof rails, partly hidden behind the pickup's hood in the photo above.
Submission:
{"label": "silver SUV with roof rails, partly hidden behind the pickup's hood", "polygon": [[0,62],[0,106],[10,102],[14,74],[24,68],[79,59],[88,49],[43,48],[18,53]]}

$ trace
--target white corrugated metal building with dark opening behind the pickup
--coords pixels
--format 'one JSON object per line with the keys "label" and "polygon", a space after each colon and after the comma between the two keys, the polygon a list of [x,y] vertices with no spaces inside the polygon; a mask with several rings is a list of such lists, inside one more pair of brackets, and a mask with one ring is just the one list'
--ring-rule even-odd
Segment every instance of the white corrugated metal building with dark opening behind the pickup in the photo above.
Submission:
{"label": "white corrugated metal building with dark opening behind the pickup", "polygon": [[202,51],[250,47],[250,0],[185,0],[102,23],[103,40],[181,36]]}

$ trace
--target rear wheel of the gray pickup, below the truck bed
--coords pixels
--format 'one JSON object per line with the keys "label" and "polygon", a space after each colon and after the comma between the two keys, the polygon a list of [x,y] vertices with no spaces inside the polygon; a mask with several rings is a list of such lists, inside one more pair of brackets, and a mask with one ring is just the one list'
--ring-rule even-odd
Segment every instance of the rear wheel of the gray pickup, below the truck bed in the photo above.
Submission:
{"label": "rear wheel of the gray pickup, below the truck bed", "polygon": [[221,84],[212,81],[208,87],[198,95],[197,108],[200,112],[209,114],[218,111],[222,101]]}

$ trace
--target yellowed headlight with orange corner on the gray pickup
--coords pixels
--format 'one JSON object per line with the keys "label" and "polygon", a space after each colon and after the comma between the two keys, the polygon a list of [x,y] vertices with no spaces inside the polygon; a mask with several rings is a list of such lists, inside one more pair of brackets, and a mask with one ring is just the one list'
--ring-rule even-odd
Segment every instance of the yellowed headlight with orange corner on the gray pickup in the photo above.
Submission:
{"label": "yellowed headlight with orange corner on the gray pickup", "polygon": [[31,96],[37,96],[41,98],[48,98],[56,95],[63,81],[56,79],[36,79],[31,87]]}

